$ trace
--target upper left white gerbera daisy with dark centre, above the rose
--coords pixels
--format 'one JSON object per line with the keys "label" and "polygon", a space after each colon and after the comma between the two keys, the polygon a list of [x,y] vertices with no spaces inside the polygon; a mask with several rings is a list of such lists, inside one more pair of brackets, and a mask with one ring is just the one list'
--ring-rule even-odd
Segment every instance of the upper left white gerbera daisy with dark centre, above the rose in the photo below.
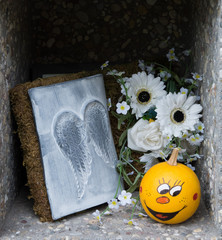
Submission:
{"label": "upper left white gerbera daisy with dark centre, above the rose", "polygon": [[132,113],[136,114],[137,119],[166,95],[164,88],[160,78],[154,78],[152,74],[147,75],[143,71],[132,75],[129,79],[128,95],[131,98]]}

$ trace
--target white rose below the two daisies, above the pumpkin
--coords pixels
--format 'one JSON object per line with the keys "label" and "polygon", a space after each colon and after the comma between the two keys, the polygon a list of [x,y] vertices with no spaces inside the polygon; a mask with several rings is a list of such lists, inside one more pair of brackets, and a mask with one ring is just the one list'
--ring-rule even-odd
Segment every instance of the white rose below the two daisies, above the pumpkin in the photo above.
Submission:
{"label": "white rose below the two daisies, above the pumpkin", "polygon": [[129,148],[140,152],[159,150],[164,145],[159,123],[143,119],[128,130],[127,140]]}

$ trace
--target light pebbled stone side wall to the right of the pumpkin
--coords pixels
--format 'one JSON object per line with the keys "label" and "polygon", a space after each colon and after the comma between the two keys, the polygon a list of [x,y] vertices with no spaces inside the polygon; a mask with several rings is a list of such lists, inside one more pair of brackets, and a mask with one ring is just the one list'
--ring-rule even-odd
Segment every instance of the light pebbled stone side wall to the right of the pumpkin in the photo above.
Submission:
{"label": "light pebbled stone side wall to the right of the pumpkin", "polygon": [[193,69],[203,74],[200,93],[205,124],[203,159],[198,172],[205,204],[222,231],[221,1],[193,2],[193,16]]}

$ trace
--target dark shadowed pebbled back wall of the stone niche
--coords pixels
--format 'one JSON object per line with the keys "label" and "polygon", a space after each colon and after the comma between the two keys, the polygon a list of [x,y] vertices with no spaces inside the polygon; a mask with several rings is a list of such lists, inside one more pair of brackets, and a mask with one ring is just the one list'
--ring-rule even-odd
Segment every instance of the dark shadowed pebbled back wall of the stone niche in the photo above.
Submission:
{"label": "dark shadowed pebbled back wall of the stone niche", "polygon": [[126,63],[159,59],[171,47],[189,47],[188,2],[33,0],[34,61]]}

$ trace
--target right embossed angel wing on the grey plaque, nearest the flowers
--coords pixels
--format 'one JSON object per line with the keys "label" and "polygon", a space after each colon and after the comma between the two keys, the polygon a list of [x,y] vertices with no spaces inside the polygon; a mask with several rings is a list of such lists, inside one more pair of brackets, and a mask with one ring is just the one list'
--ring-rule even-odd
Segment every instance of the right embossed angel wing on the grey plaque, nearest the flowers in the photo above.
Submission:
{"label": "right embossed angel wing on the grey plaque, nearest the flowers", "polygon": [[85,123],[90,143],[105,163],[115,167],[116,152],[110,132],[110,123],[105,107],[98,101],[89,103],[85,110]]}

